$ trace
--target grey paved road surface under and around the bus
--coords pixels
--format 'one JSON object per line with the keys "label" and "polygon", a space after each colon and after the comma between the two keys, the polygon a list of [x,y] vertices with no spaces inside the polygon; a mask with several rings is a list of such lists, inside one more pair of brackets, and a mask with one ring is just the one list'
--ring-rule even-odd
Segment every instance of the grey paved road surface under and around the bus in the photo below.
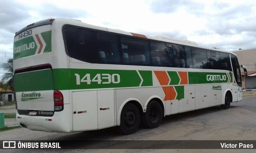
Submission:
{"label": "grey paved road surface under and around the bus", "polygon": [[[102,129],[98,131],[84,131],[76,133],[47,133],[42,131],[30,131],[20,128],[0,132],[1,140],[256,140],[256,96],[244,97],[242,102],[232,103],[230,109],[221,110],[219,106],[167,116],[160,127],[156,129],[140,128],[132,135],[120,135],[116,128]],[[135,142],[136,143],[136,142]],[[82,149],[86,144],[70,143],[77,149],[55,150],[54,152],[142,152],[166,153],[166,152],[244,152],[252,153],[254,150],[184,150],[184,149]],[[103,143],[92,143],[95,148]],[[115,145],[115,144],[108,144]],[[256,146],[255,146],[256,147]],[[79,150],[82,149],[82,150]],[[44,152],[49,150],[37,150]],[[4,150],[12,153],[32,153],[34,150]]]}

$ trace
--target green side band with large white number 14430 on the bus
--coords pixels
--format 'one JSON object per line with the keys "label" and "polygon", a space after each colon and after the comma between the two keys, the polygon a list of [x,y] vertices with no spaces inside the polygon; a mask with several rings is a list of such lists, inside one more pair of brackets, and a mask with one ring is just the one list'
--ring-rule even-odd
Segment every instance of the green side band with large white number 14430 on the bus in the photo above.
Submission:
{"label": "green side band with large white number 14430 on the bus", "polygon": [[[144,72],[142,76],[145,78]],[[71,89],[139,87],[141,82],[135,70],[70,69]],[[143,86],[148,79],[145,82]]]}

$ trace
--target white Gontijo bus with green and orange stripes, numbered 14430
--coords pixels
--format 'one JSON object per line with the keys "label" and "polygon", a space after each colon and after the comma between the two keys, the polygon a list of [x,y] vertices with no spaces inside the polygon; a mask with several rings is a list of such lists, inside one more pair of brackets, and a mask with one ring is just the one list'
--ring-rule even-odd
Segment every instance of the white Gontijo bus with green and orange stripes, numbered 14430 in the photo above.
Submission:
{"label": "white Gontijo bus with green and orange stripes, numbered 14430", "polygon": [[16,119],[24,128],[74,132],[118,126],[125,134],[162,117],[242,100],[234,53],[48,19],[14,37]]}

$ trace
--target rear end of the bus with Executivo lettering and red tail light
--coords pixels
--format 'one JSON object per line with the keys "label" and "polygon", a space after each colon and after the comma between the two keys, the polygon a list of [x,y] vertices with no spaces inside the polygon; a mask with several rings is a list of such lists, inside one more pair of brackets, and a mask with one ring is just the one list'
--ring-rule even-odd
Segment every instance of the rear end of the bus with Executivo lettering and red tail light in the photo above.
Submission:
{"label": "rear end of the bus with Executivo lettering and red tail light", "polygon": [[30,24],[14,37],[16,119],[31,130],[70,132],[69,107],[65,109],[62,91],[54,84],[58,73],[54,71],[53,21]]}

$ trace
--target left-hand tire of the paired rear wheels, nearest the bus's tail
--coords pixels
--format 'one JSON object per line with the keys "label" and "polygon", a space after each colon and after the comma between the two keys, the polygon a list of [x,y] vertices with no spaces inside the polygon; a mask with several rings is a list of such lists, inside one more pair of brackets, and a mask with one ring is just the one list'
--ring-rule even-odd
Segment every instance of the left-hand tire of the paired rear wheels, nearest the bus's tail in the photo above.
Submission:
{"label": "left-hand tire of the paired rear wheels, nearest the bus's tail", "polygon": [[126,135],[132,134],[138,130],[139,125],[140,112],[138,108],[132,103],[125,104],[120,116],[119,130]]}

